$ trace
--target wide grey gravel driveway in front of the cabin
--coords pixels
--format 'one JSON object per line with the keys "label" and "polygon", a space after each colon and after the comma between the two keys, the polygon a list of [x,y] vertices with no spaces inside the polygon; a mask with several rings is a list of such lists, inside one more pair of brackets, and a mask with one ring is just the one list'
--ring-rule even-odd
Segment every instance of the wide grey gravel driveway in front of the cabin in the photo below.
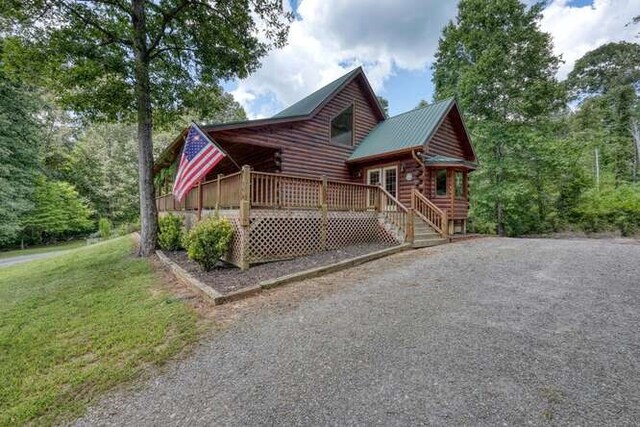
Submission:
{"label": "wide grey gravel driveway in front of the cabin", "polygon": [[466,241],[222,310],[78,424],[640,423],[638,242]]}

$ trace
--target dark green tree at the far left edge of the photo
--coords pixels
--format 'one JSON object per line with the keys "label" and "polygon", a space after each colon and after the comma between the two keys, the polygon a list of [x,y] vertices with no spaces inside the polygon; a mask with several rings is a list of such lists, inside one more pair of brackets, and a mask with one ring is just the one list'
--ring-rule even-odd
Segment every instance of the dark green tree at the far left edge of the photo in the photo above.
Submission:
{"label": "dark green tree at the far left edge of the photo", "polygon": [[0,63],[0,247],[15,241],[20,217],[33,206],[41,137],[37,112],[34,95],[9,80]]}

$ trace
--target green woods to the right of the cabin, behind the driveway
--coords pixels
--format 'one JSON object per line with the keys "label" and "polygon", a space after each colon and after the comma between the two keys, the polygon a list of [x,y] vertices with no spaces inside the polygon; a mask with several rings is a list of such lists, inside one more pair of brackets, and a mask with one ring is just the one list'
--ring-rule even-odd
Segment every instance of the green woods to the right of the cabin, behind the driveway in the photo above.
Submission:
{"label": "green woods to the right of the cabin, behind the driveway", "polygon": [[638,233],[640,45],[599,46],[560,82],[543,8],[462,0],[439,41],[435,97],[457,97],[480,162],[470,230]]}

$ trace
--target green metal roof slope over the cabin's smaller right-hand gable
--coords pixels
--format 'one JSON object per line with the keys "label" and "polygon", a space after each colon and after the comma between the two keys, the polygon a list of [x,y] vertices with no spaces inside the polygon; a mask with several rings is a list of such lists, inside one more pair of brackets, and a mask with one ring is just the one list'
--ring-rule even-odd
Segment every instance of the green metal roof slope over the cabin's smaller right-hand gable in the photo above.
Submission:
{"label": "green metal roof slope over the cabin's smaller right-hand gable", "polygon": [[421,147],[431,138],[453,103],[454,98],[448,98],[378,123],[349,160]]}

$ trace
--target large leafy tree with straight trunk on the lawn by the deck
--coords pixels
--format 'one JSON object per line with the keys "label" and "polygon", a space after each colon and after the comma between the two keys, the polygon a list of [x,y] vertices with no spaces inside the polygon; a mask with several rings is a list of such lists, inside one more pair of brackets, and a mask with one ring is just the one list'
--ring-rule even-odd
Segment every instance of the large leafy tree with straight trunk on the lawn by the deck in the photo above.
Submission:
{"label": "large leafy tree with straight trunk on the lawn by the deck", "polygon": [[137,122],[140,255],[153,253],[154,118],[207,105],[219,79],[246,77],[286,42],[280,0],[7,0],[0,25],[15,72],[37,73],[91,118]]}

